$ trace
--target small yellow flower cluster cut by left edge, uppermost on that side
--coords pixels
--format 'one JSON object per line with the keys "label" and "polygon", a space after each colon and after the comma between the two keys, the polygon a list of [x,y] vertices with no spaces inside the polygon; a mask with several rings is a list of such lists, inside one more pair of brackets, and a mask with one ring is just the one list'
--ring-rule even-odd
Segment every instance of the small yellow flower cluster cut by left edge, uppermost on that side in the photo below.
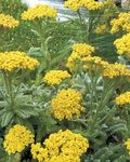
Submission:
{"label": "small yellow flower cluster cut by left edge, uppermost on that side", "polygon": [[12,16],[0,14],[0,26],[4,28],[14,28],[18,26],[18,21],[14,19]]}

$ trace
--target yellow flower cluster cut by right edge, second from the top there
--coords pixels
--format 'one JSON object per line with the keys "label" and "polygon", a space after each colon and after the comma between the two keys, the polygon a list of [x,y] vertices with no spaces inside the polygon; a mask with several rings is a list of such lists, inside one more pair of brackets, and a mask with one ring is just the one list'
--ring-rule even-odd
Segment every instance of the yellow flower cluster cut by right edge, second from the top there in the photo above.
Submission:
{"label": "yellow flower cluster cut by right edge, second from the top there", "polygon": [[114,44],[119,55],[125,54],[130,57],[130,33],[123,35],[120,39],[116,39]]}

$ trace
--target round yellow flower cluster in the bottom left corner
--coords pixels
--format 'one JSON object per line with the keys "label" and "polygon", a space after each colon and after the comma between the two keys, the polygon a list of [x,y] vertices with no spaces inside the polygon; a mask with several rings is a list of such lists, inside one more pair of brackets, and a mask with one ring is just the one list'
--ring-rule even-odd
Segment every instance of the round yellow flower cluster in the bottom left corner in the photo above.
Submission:
{"label": "round yellow flower cluster in the bottom left corner", "polygon": [[3,147],[11,154],[22,152],[25,147],[34,143],[34,134],[24,125],[14,125],[5,135]]}

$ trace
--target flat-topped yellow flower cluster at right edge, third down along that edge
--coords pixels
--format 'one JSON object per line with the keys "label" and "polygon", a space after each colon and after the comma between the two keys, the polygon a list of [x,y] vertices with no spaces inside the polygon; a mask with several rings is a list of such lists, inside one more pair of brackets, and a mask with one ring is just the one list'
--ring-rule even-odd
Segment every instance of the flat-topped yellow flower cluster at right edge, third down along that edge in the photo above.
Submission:
{"label": "flat-topped yellow flower cluster at right edge, third down along that edge", "polygon": [[122,64],[108,64],[104,69],[103,76],[107,78],[130,77],[130,69]]}

